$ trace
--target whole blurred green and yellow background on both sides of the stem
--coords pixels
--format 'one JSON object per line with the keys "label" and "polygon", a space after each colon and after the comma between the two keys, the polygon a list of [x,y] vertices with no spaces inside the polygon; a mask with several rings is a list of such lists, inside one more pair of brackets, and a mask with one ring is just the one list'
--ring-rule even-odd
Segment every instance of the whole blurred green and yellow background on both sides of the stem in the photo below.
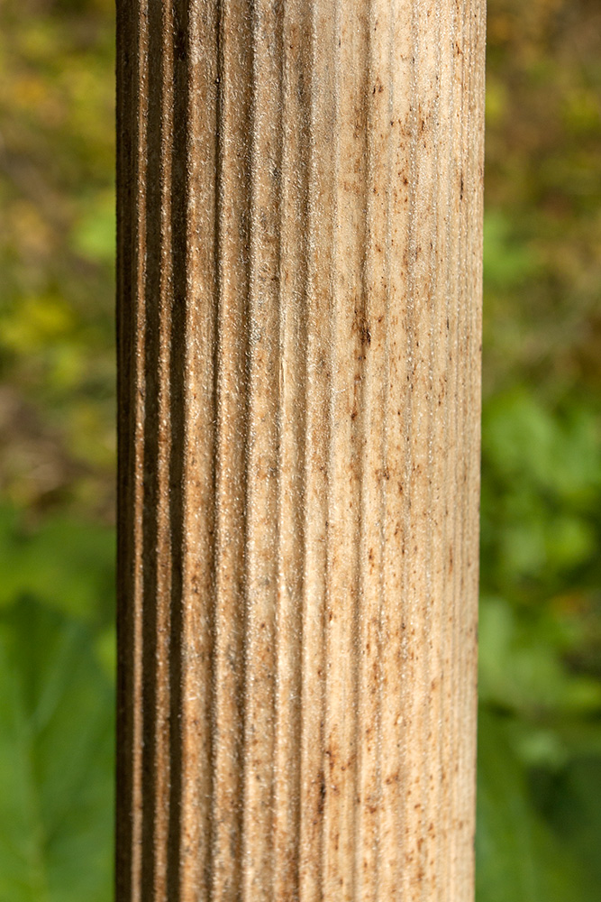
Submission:
{"label": "whole blurred green and yellow background on both sides of the stem", "polygon": [[[107,902],[113,0],[0,71],[0,899]],[[478,902],[601,898],[600,108],[598,0],[490,0]]]}

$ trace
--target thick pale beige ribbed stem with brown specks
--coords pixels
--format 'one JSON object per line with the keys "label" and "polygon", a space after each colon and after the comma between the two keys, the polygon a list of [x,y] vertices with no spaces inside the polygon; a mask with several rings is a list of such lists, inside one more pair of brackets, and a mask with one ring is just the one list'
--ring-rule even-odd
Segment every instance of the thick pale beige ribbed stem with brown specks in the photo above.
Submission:
{"label": "thick pale beige ribbed stem with brown specks", "polygon": [[119,0],[118,902],[470,902],[483,0]]}

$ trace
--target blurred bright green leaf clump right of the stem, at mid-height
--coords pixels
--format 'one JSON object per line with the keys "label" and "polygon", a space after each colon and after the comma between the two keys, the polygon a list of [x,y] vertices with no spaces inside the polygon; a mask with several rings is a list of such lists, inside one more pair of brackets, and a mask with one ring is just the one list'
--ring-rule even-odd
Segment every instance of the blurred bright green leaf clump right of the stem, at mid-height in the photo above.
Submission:
{"label": "blurred bright green leaf clump right of the stem, at mid-height", "polygon": [[595,405],[570,399],[553,410],[530,387],[499,393],[485,405],[482,455],[487,584],[533,600],[576,570],[592,576],[601,538]]}

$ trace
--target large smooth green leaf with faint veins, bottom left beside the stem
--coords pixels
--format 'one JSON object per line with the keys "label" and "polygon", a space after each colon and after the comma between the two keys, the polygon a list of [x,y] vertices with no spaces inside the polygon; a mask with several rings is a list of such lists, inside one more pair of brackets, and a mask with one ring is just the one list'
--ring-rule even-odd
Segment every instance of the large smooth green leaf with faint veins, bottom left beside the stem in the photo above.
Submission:
{"label": "large smooth green leaf with faint veins, bottom left beside the stem", "polygon": [[0,616],[0,898],[106,902],[113,694],[77,621],[32,600]]}

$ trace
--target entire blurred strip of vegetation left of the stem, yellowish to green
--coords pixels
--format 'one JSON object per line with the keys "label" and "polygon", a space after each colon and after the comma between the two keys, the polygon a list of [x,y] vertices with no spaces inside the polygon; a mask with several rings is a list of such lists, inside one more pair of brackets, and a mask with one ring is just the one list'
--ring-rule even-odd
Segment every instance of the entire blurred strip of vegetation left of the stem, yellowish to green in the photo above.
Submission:
{"label": "entire blurred strip of vegetation left of the stem, yellowish to green", "polygon": [[113,0],[3,0],[0,72],[0,899],[108,902]]}

